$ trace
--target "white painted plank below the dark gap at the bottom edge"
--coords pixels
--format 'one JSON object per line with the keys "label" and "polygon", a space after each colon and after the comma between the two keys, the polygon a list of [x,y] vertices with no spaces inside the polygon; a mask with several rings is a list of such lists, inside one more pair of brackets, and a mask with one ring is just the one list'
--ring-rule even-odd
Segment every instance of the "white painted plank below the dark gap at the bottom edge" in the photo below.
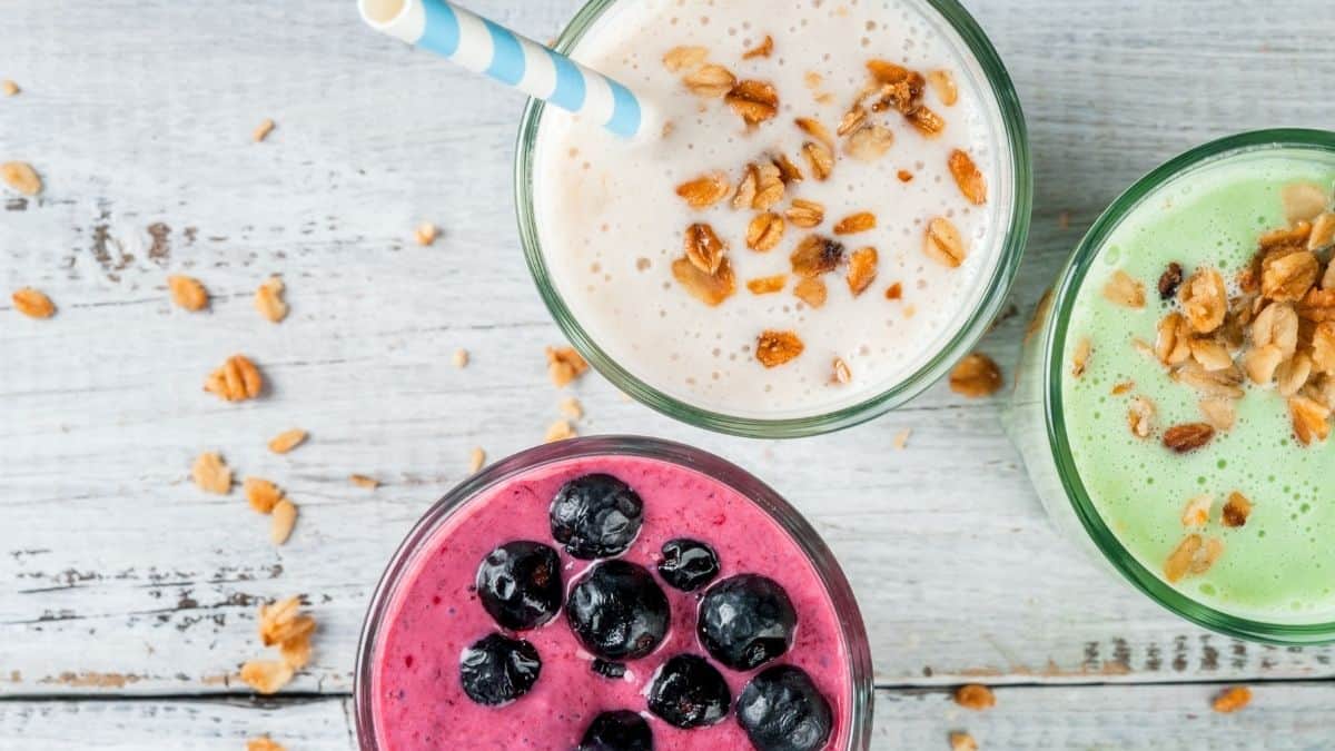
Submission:
{"label": "white painted plank below the dark gap at the bottom edge", "polygon": [[[1218,715],[1218,686],[1016,687],[997,706],[971,712],[947,691],[882,690],[872,748],[945,751],[951,732],[973,735],[984,751],[1318,751],[1335,736],[1335,687],[1266,684],[1254,703]],[[174,699],[0,702],[0,750],[236,751],[268,734],[290,751],[355,748],[346,698],[251,704]]]}

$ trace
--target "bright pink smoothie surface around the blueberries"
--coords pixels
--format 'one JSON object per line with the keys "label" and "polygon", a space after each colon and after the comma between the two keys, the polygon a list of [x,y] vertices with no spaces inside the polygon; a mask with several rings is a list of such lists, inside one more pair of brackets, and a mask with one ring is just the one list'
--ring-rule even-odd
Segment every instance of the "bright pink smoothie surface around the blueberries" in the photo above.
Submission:
{"label": "bright pink smoothie surface around the blueberries", "polygon": [[[542,657],[541,676],[527,695],[503,707],[475,704],[465,695],[461,652],[498,631],[474,592],[479,561],[511,540],[541,541],[561,551],[551,540],[547,506],[567,480],[599,472],[621,478],[643,500],[643,527],[622,559],[653,572],[665,541],[690,537],[718,552],[721,572],[714,581],[760,573],[788,591],[798,617],[792,648],[756,671],[716,667],[734,703],[756,672],[776,664],[801,667],[833,711],[834,730],[826,748],[845,748],[852,703],[848,645],[825,587],[794,540],[752,501],[705,474],[625,456],[566,460],[501,482],[455,512],[421,548],[388,603],[375,645],[371,691],[379,747],[570,751],[593,718],[609,710],[643,715],[658,751],[750,747],[732,708],[725,720],[697,730],[678,730],[646,710],[649,679],[665,660],[682,652],[708,656],[696,635],[696,608],[704,591],[663,587],[672,629],[651,655],[626,663],[621,679],[590,668],[593,656],[562,613],[519,635]],[[561,561],[567,591],[593,564],[565,551]]]}

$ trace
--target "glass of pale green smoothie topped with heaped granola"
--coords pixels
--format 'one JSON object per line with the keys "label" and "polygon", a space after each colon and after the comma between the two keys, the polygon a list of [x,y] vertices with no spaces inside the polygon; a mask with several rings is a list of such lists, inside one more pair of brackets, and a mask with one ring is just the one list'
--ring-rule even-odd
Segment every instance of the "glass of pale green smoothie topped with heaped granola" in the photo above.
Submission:
{"label": "glass of pale green smoothie topped with heaped granola", "polygon": [[1335,640],[1332,198],[1326,131],[1143,178],[1040,302],[1007,417],[1061,532],[1242,639]]}

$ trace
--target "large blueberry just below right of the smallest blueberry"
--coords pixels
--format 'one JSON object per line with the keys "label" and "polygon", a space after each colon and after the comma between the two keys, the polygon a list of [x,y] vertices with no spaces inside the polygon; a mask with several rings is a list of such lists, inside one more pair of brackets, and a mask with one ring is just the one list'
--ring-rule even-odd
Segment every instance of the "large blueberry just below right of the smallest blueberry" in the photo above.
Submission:
{"label": "large blueberry just below right of the smallest blueberry", "polygon": [[797,612],[777,581],[744,573],[709,588],[697,627],[716,660],[748,671],[788,651]]}

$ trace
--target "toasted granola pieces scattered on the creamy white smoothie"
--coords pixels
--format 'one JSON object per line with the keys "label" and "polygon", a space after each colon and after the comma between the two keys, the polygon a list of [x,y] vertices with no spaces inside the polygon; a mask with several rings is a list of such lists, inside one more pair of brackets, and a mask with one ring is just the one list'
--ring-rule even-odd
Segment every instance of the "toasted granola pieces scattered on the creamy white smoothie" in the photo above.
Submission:
{"label": "toasted granola pieces scattered on the creamy white smoothie", "polygon": [[[769,57],[774,53],[773,37],[746,51],[742,57]],[[780,92],[764,80],[740,79],[728,67],[710,60],[705,47],[674,47],[662,59],[663,67],[681,78],[682,86],[700,98],[701,107],[721,99],[745,123],[748,131],[774,120],[780,111]],[[694,176],[677,186],[677,196],[700,212],[718,208],[749,212],[745,237],[720,237],[713,224],[697,220],[684,231],[682,254],[672,263],[672,275],[692,297],[717,307],[737,294],[738,281],[730,254],[745,246],[757,254],[769,254],[789,243],[786,267],[745,281],[754,295],[778,294],[790,289],[808,309],[820,309],[829,297],[836,274],[842,275],[853,297],[865,293],[877,278],[880,254],[876,247],[857,243],[857,235],[877,227],[877,215],[865,206],[826,207],[798,195],[806,180],[829,180],[842,159],[876,162],[894,144],[890,124],[908,123],[926,138],[939,136],[945,119],[924,103],[930,88],[947,107],[959,100],[959,90],[948,71],[926,75],[886,60],[866,63],[866,80],[852,98],[837,124],[826,126],[818,118],[793,119],[789,135],[794,148],[765,151],[733,170],[720,168]],[[824,79],[812,72],[808,88],[818,103],[833,95],[814,92]],[[772,124],[774,128],[789,126]],[[670,127],[665,134],[670,134]],[[987,203],[988,186],[983,172],[964,151],[953,151],[944,166],[960,194],[973,206]],[[900,171],[900,180],[913,174]],[[829,226],[826,227],[826,222]],[[960,231],[947,216],[924,216],[922,253],[934,262],[955,269],[964,263],[968,247]],[[837,238],[837,239],[836,239]],[[845,245],[848,243],[848,245]],[[902,285],[892,283],[885,299],[902,297]],[[908,314],[908,310],[905,311]],[[766,329],[757,334],[756,358],[765,367],[777,367],[800,357],[806,349],[792,330]],[[832,385],[844,385],[852,373],[842,359],[836,359]]]}

